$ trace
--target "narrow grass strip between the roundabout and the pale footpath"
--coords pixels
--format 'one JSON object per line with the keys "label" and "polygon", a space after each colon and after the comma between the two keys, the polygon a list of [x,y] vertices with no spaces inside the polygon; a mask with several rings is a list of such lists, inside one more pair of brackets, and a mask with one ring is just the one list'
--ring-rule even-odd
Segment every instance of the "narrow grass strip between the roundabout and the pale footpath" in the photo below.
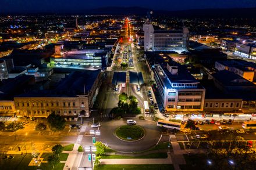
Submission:
{"label": "narrow grass strip between the roundabout and the pale footpath", "polygon": [[102,159],[153,159],[153,158],[167,158],[167,153],[153,153],[141,156],[126,156],[126,155],[102,155]]}

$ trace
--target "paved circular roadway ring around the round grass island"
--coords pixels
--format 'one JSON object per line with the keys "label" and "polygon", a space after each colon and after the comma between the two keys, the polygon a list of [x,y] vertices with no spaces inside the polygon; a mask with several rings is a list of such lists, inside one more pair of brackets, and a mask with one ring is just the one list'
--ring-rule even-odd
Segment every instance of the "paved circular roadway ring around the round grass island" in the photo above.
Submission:
{"label": "paved circular roadway ring around the round grass island", "polygon": [[120,127],[126,126],[127,119],[128,118],[122,118],[121,120],[101,122],[101,136],[99,138],[102,143],[108,144],[108,146],[113,150],[127,153],[147,150],[157,144],[161,137],[161,132],[159,131],[159,127],[157,126],[156,122],[138,120],[137,118],[135,118],[137,125],[131,125],[130,127],[139,126],[140,128],[143,128],[144,135],[141,138],[134,140],[127,140],[127,137],[131,137],[130,135],[123,136],[123,139],[119,138],[116,135],[116,131]]}

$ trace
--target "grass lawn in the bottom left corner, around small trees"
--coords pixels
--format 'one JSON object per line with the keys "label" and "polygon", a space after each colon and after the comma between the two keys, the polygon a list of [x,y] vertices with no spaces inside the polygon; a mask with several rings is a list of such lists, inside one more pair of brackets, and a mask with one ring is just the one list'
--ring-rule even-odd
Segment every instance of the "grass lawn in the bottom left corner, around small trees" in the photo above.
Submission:
{"label": "grass lawn in the bottom left corner, around small trees", "polygon": [[[32,160],[31,154],[13,154],[13,159],[5,159],[3,160],[3,155],[0,156],[0,167],[1,170],[13,170],[13,169],[26,169],[26,170],[36,170],[36,169],[42,169],[42,170],[48,170],[52,169],[51,165],[42,163],[40,167],[37,166],[28,166],[30,161]],[[58,164],[55,169],[62,170],[64,168],[65,164]]]}

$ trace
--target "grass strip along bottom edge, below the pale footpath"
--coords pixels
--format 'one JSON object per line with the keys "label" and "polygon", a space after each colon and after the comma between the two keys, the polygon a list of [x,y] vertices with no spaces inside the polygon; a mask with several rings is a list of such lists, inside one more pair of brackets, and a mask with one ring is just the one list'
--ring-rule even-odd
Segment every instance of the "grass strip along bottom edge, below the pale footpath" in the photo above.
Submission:
{"label": "grass strip along bottom edge, below the pale footpath", "polygon": [[99,168],[97,166],[94,167],[95,170],[172,170],[173,165],[172,164],[152,164],[152,165],[99,165]]}

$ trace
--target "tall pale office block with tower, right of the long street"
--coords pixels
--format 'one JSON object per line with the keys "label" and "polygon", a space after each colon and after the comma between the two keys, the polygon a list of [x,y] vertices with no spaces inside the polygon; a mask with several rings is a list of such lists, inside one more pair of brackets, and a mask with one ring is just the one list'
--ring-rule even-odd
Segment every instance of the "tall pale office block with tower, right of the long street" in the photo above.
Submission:
{"label": "tall pale office block with tower, right of the long street", "polygon": [[189,44],[189,29],[155,30],[148,21],[143,25],[145,51],[176,51],[187,50]]}

